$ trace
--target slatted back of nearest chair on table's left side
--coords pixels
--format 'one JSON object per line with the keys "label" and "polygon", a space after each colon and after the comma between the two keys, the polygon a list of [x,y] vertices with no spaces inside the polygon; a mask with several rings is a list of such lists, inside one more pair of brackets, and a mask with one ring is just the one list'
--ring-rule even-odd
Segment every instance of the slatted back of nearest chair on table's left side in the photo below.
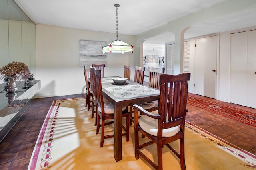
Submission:
{"label": "slatted back of nearest chair on table's left side", "polygon": [[104,111],[104,100],[103,100],[103,94],[102,94],[102,85],[101,85],[101,70],[95,70],[95,94],[96,94],[96,103],[97,106],[101,107],[101,113],[104,117],[105,111]]}

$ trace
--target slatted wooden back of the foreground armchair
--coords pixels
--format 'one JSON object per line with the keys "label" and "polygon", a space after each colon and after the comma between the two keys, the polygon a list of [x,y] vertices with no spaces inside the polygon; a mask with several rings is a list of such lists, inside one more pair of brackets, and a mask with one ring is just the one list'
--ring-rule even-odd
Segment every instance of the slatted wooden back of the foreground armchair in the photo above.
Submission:
{"label": "slatted wooden back of the foreground armchair", "polygon": [[[160,122],[163,128],[174,127],[177,125],[184,128],[186,105],[188,99],[188,81],[190,73],[179,75],[160,75]],[[159,125],[158,125],[159,126]]]}

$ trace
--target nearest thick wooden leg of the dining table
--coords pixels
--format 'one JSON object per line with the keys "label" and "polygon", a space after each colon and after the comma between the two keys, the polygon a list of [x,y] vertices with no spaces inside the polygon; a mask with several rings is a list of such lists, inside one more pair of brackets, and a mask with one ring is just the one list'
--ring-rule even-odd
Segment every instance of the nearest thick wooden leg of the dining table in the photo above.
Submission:
{"label": "nearest thick wooden leg of the dining table", "polygon": [[122,107],[115,106],[114,114],[114,156],[116,162],[122,160]]}

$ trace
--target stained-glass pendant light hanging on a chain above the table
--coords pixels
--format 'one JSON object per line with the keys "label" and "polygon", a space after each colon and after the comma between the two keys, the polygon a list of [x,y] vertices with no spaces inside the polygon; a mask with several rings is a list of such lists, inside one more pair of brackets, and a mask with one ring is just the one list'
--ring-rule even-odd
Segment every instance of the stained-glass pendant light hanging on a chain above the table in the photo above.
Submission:
{"label": "stained-glass pendant light hanging on a chain above the table", "polygon": [[118,40],[118,29],[117,29],[117,8],[120,6],[119,4],[114,4],[116,7],[116,40],[112,41],[108,45],[102,47],[102,53],[133,53],[133,45],[127,44],[123,41]]}

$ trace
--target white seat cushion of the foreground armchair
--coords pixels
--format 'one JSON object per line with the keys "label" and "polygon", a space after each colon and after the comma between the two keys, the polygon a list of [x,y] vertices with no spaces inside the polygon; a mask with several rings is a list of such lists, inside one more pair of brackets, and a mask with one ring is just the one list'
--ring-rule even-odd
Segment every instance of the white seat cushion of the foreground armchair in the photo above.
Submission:
{"label": "white seat cushion of the foreground armchair", "polygon": [[[158,119],[153,119],[147,115],[142,115],[139,119],[140,127],[147,133],[157,136]],[[180,131],[180,126],[171,127],[163,130],[163,137],[171,137]]]}

